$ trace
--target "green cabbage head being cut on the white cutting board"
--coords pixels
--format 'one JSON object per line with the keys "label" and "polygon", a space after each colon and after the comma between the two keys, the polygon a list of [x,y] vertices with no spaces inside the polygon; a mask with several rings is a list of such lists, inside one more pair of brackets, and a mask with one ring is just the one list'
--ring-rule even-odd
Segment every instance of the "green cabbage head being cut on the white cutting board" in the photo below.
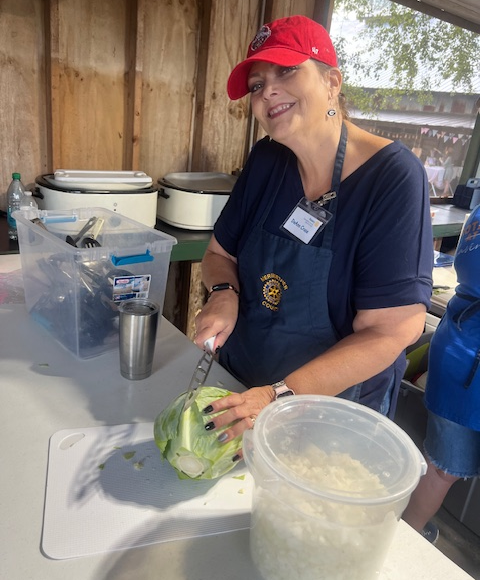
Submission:
{"label": "green cabbage head being cut on the white cutting board", "polygon": [[218,431],[205,430],[215,415],[202,413],[213,401],[230,394],[219,387],[199,387],[185,412],[187,393],[182,393],[155,419],[155,443],[180,479],[215,479],[235,467],[232,458],[241,449],[242,438],[220,443]]}

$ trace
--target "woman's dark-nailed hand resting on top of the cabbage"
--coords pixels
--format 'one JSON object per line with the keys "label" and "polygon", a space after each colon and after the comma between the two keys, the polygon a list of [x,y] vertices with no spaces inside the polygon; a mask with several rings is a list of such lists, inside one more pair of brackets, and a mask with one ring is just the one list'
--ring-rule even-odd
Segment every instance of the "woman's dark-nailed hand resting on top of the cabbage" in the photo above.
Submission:
{"label": "woman's dark-nailed hand resting on top of the cabbage", "polygon": [[[220,413],[205,425],[207,431],[217,430],[220,443],[231,441],[239,437],[246,429],[252,429],[255,419],[260,411],[271,403],[274,399],[273,388],[269,385],[265,387],[252,387],[244,393],[232,393],[221,399],[217,399],[211,405],[203,409],[205,415]],[[223,411],[223,412],[222,412]],[[222,429],[230,425],[228,429]],[[232,461],[242,458],[240,452],[232,457]]]}

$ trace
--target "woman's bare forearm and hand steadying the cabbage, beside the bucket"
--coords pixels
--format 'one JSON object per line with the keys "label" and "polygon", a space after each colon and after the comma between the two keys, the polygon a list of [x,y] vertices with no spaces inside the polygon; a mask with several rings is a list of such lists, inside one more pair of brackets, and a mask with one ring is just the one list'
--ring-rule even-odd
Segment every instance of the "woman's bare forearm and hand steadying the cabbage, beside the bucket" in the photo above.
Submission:
{"label": "woman's bare forearm and hand steadying the cabbage, beside the bucket", "polygon": [[[400,353],[421,336],[426,308],[411,304],[394,308],[361,310],[354,320],[353,334],[293,371],[284,380],[295,394],[338,395],[390,366]],[[254,387],[218,399],[209,414],[224,411],[210,428],[225,431],[229,441],[252,427],[252,417],[274,398],[271,385]]]}

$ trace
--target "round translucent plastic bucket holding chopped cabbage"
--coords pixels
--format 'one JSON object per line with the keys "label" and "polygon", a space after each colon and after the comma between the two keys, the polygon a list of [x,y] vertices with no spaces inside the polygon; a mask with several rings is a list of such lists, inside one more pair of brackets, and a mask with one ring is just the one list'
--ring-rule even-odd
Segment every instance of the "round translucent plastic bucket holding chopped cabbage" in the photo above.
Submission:
{"label": "round translucent plastic bucket holding chopped cabbage", "polygon": [[371,580],[426,464],[395,423],[345,399],[275,401],[246,431],[250,550],[265,580]]}

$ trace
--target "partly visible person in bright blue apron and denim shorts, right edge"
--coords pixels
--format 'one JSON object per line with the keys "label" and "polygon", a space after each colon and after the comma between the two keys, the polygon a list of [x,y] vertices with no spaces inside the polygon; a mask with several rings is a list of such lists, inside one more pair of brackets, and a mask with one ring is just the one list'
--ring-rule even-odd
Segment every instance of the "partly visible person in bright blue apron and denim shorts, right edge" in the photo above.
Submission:
{"label": "partly visible person in bright blue apron and denim shorts, right edge", "polygon": [[455,254],[459,282],[430,343],[424,449],[427,473],[403,518],[432,542],[429,522],[451,486],[480,475],[480,205],[471,213]]}

